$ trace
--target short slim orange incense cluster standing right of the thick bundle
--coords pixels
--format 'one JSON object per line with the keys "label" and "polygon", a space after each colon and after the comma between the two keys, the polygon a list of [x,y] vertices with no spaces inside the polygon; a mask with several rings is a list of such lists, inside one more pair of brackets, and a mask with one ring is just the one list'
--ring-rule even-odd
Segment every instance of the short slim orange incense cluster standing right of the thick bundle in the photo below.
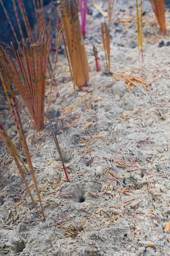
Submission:
{"label": "short slim orange incense cluster standing right of the thick bundle", "polygon": [[101,35],[106,58],[107,72],[110,73],[110,31],[106,22],[101,24]]}

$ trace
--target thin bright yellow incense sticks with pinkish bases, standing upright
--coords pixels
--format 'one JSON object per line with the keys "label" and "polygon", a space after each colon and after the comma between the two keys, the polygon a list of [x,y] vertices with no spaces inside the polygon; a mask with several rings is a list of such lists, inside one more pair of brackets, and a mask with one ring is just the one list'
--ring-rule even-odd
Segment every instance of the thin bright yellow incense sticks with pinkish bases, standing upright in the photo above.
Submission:
{"label": "thin bright yellow incense sticks with pinkish bases, standing upright", "polygon": [[143,19],[142,19],[142,0],[140,0],[141,3],[141,15],[139,18],[139,12],[138,12],[138,0],[136,0],[136,14],[137,14],[137,31],[138,31],[138,54],[139,54],[139,60],[140,60],[140,49],[141,49],[141,59],[144,61],[143,56]]}

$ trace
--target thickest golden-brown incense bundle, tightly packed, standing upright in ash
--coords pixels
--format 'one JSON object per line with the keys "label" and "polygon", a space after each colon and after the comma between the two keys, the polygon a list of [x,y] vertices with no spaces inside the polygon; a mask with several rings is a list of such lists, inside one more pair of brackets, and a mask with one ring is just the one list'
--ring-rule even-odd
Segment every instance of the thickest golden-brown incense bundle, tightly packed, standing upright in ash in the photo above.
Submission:
{"label": "thickest golden-brown incense bundle, tightly packed, standing upright in ash", "polygon": [[[81,87],[89,80],[89,65],[78,18],[78,1],[57,0],[62,16],[66,44],[69,52],[71,76],[75,86]],[[58,20],[60,23],[60,21]],[[61,23],[60,23],[61,26]]]}

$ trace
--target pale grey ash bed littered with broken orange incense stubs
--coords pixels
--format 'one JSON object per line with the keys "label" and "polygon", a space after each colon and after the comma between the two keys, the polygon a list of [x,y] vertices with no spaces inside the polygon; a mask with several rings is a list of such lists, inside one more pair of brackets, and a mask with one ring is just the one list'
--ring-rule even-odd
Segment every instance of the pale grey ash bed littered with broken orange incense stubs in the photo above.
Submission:
{"label": "pale grey ash bed littered with broken orange incense stubs", "polygon": [[[103,9],[107,9],[106,3]],[[142,63],[136,47],[135,3],[115,1],[110,26],[111,71],[119,81],[103,74],[106,62],[100,25],[104,17],[87,15],[87,37],[98,49],[101,66],[96,72],[92,45],[86,38],[88,91],[77,90],[74,95],[66,56],[58,56],[55,77],[61,96],[56,98],[52,91],[49,118],[58,132],[70,183],[56,166],[61,162],[48,129],[38,137],[21,111],[46,222],[40,222],[12,157],[1,146],[0,255],[170,255],[170,234],[164,230],[170,221],[170,46],[166,46],[170,27],[163,38],[148,1],[144,1],[144,11]],[[120,22],[118,17],[132,17],[132,22]],[[166,17],[168,24],[168,10]],[[165,45],[158,47],[162,40]],[[52,52],[51,60],[54,58]],[[125,74],[147,84],[137,82],[138,87],[127,91],[118,70],[127,70]],[[46,103],[49,87],[50,79]],[[0,100],[1,105],[8,105],[3,96]],[[0,112],[0,119],[20,148],[8,107]],[[34,145],[31,136],[37,140]],[[26,177],[37,198],[31,175]],[[22,200],[23,208],[17,206],[9,215]]]}

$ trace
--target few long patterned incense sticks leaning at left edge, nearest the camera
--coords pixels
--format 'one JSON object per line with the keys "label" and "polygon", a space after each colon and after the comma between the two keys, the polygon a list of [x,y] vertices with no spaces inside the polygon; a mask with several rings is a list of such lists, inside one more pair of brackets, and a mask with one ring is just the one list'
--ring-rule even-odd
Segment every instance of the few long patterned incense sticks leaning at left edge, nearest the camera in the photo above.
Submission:
{"label": "few long patterned incense sticks leaning at left edge, nearest the camera", "polygon": [[[1,47],[1,45],[0,45],[0,60],[1,60],[1,64],[2,64],[1,66],[3,68],[3,71],[0,68],[0,79],[2,81],[3,88],[5,90],[6,97],[7,97],[8,102],[9,102],[9,107],[10,107],[10,110],[12,112],[12,116],[13,116],[13,119],[14,119],[14,123],[15,123],[16,128],[17,128],[17,133],[20,137],[20,142],[21,142],[21,145],[23,147],[23,151],[24,151],[24,154],[26,156],[27,163],[29,165],[29,169],[30,169],[30,172],[31,172],[31,175],[32,175],[32,179],[33,179],[33,182],[34,182],[34,185],[35,185],[35,190],[37,192],[37,196],[38,196],[38,199],[40,201],[40,207],[42,209],[43,219],[45,221],[45,215],[44,215],[44,212],[43,212],[43,206],[41,204],[40,193],[39,193],[39,190],[38,190],[37,181],[36,181],[36,178],[35,178],[31,157],[30,157],[30,154],[29,154],[29,149],[28,149],[28,146],[27,146],[27,143],[26,143],[26,137],[25,137],[25,134],[24,134],[23,125],[22,125],[22,122],[21,122],[21,119],[20,119],[20,114],[19,114],[19,110],[18,110],[18,106],[17,106],[16,96],[15,96],[13,88],[12,88],[12,83],[11,83],[11,79],[10,79],[11,74],[10,74],[9,68],[6,64],[5,56],[4,56],[3,49]],[[11,101],[10,96],[9,96],[8,88],[9,88],[11,96],[12,96],[13,104],[12,104],[12,101]],[[23,172],[23,170],[22,170],[22,168],[21,168],[21,166],[20,166],[20,164],[18,163],[18,160],[17,160],[17,157],[20,159],[19,153],[17,152],[17,150],[14,147],[12,141],[9,139],[8,135],[4,131],[2,125],[1,125],[0,128],[1,128],[1,131],[2,131],[1,138],[2,138],[3,142],[5,143],[5,145],[7,145],[7,148],[9,150],[10,154],[12,154],[12,156],[14,157],[15,163],[17,164],[17,167],[20,171],[20,174],[21,174],[21,176],[22,176],[22,178],[25,182],[25,178],[24,178],[24,175],[23,175],[24,172]],[[20,159],[20,162],[23,164],[26,171],[28,171],[21,159]],[[31,198],[32,198],[32,196],[31,196]],[[34,200],[33,200],[33,203],[35,205]],[[38,214],[39,214],[39,212],[38,212]]]}

